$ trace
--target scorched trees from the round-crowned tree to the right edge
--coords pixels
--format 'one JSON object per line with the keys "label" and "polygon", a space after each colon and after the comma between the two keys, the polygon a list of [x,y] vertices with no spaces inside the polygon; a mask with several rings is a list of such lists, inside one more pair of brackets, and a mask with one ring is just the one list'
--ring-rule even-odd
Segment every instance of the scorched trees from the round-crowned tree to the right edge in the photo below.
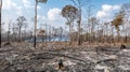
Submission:
{"label": "scorched trees from the round-crowned tree to the right edge", "polygon": [[[87,23],[81,23],[81,9],[89,1],[70,1],[75,5],[65,5],[62,10],[62,16],[66,18],[66,25],[69,27],[69,44],[72,44],[72,41],[78,41],[78,45],[81,45],[82,42],[128,43],[130,41],[130,3],[122,4],[120,11],[109,21],[102,21],[102,19],[91,16],[92,10],[91,5],[89,5],[86,14],[88,15]],[[72,32],[75,24],[77,25],[78,31]],[[81,25],[86,25],[86,27],[81,27]]]}

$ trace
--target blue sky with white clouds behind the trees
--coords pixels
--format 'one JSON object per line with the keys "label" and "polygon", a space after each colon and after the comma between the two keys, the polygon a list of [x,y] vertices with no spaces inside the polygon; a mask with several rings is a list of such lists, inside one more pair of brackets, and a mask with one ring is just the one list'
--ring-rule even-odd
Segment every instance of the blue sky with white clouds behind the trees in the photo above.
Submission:
{"label": "blue sky with white clouds behind the trees", "polygon": [[[94,17],[103,20],[109,20],[115,12],[120,9],[122,3],[130,0],[90,0],[89,4],[93,5]],[[48,24],[54,27],[65,26],[66,19],[61,16],[61,11],[66,4],[73,4],[68,0],[48,0],[48,2],[38,4],[38,28],[41,24]],[[6,25],[10,20],[16,21],[18,16],[25,16],[28,20],[29,28],[34,28],[32,18],[35,16],[35,0],[3,0],[2,21]],[[84,6],[82,10],[86,13]],[[82,15],[86,17],[86,14]],[[86,19],[86,18],[83,18]],[[6,28],[8,26],[4,26]]]}

